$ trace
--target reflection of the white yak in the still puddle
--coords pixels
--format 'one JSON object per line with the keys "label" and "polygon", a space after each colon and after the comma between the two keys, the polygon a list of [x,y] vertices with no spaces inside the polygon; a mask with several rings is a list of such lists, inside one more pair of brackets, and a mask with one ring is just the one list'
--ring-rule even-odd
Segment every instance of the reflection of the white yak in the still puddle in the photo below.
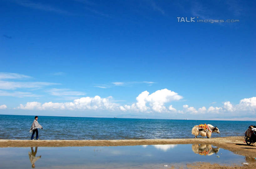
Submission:
{"label": "reflection of the white yak in the still puddle", "polygon": [[212,147],[211,144],[193,144],[192,145],[192,150],[196,154],[200,155],[213,155],[213,153],[217,154],[219,152],[219,148]]}

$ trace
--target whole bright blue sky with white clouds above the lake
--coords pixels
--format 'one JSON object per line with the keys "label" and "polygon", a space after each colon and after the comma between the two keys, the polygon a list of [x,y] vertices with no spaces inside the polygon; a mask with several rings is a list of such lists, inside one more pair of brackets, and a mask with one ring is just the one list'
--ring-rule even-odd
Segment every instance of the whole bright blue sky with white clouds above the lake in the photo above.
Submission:
{"label": "whole bright blue sky with white clouds above the lake", "polygon": [[256,119],[254,1],[0,3],[0,114]]}

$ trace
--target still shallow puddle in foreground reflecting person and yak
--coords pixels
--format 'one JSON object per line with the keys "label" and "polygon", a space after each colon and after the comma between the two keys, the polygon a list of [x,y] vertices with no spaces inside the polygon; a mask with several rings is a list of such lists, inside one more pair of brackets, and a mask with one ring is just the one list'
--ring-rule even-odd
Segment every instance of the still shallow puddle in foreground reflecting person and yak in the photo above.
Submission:
{"label": "still shallow puddle in foreground reflecting person and yak", "polygon": [[[0,148],[0,168],[186,168],[187,163],[238,164],[244,156],[206,144],[117,147]],[[34,164],[34,166],[33,166]]]}

